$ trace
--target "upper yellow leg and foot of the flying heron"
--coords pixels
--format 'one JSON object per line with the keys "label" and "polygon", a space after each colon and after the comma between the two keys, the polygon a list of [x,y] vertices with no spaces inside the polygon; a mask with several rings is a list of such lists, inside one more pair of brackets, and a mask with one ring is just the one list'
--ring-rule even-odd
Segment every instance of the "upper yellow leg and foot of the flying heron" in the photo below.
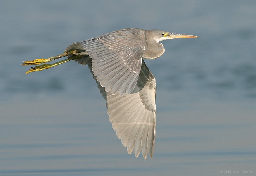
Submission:
{"label": "upper yellow leg and foot of the flying heron", "polygon": [[54,56],[54,57],[50,57],[50,58],[47,58],[47,59],[40,58],[40,59],[35,59],[35,60],[32,60],[32,61],[24,61],[24,63],[22,65],[43,64],[43,63],[50,62],[50,61],[55,60],[55,59],[59,59],[61,57],[65,57],[65,56],[68,56],[68,55],[74,55],[74,54],[77,54],[77,53],[78,53],[78,50],[72,50],[72,51],[69,51],[69,52]]}

